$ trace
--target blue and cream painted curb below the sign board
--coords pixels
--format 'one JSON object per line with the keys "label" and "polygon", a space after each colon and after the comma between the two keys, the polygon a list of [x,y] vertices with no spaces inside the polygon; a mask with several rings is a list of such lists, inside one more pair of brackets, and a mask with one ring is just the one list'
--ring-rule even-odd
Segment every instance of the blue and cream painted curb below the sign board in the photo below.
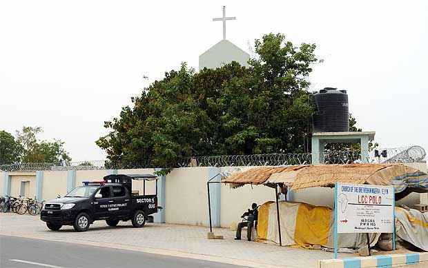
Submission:
{"label": "blue and cream painted curb below the sign board", "polygon": [[428,267],[428,252],[318,260],[318,268],[398,267],[417,264],[424,264]]}

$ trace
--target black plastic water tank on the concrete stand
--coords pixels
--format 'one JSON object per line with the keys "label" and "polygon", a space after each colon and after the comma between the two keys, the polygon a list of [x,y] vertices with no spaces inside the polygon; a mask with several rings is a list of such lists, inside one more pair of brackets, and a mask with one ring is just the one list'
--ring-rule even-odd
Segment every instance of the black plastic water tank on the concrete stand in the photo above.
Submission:
{"label": "black plastic water tank on the concrete stand", "polygon": [[349,131],[348,94],[346,90],[324,87],[313,94],[316,105],[313,132]]}

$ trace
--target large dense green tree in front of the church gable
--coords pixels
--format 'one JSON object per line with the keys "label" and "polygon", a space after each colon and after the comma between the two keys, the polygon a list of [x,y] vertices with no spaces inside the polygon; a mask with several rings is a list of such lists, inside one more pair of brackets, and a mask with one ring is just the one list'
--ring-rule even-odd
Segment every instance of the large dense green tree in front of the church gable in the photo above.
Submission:
{"label": "large dense green tree in front of the church gable", "polygon": [[304,152],[315,45],[283,34],[255,40],[257,59],[199,73],[185,63],[132,98],[97,145],[110,165],[175,167],[194,155]]}

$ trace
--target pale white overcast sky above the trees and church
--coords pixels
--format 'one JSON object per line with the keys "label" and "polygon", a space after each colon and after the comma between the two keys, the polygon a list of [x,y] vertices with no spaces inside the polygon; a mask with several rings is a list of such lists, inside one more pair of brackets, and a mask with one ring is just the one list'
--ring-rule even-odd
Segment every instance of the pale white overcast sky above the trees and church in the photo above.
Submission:
{"label": "pale white overcast sky above the trees and church", "polygon": [[311,90],[348,90],[382,147],[428,151],[428,1],[1,1],[0,130],[38,125],[73,161],[104,159],[103,122],[182,61],[197,70],[223,5],[228,40],[316,43]]}

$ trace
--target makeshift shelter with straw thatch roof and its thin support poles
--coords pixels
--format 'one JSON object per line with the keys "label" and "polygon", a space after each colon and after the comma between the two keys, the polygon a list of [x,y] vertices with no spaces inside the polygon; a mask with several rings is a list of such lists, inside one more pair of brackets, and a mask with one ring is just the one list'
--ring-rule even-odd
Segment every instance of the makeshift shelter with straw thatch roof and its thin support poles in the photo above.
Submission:
{"label": "makeshift shelter with straw thatch roof and its thin support poles", "polygon": [[[235,172],[222,179],[231,187],[242,185],[266,185],[275,188],[278,226],[280,213],[278,205],[278,186],[293,190],[309,187],[334,187],[335,183],[392,185],[396,200],[411,192],[428,192],[428,175],[413,167],[402,164],[349,164],[349,165],[293,165],[282,167],[255,167],[245,172]],[[211,227],[211,205],[208,206]],[[281,228],[278,228],[280,245]]]}

